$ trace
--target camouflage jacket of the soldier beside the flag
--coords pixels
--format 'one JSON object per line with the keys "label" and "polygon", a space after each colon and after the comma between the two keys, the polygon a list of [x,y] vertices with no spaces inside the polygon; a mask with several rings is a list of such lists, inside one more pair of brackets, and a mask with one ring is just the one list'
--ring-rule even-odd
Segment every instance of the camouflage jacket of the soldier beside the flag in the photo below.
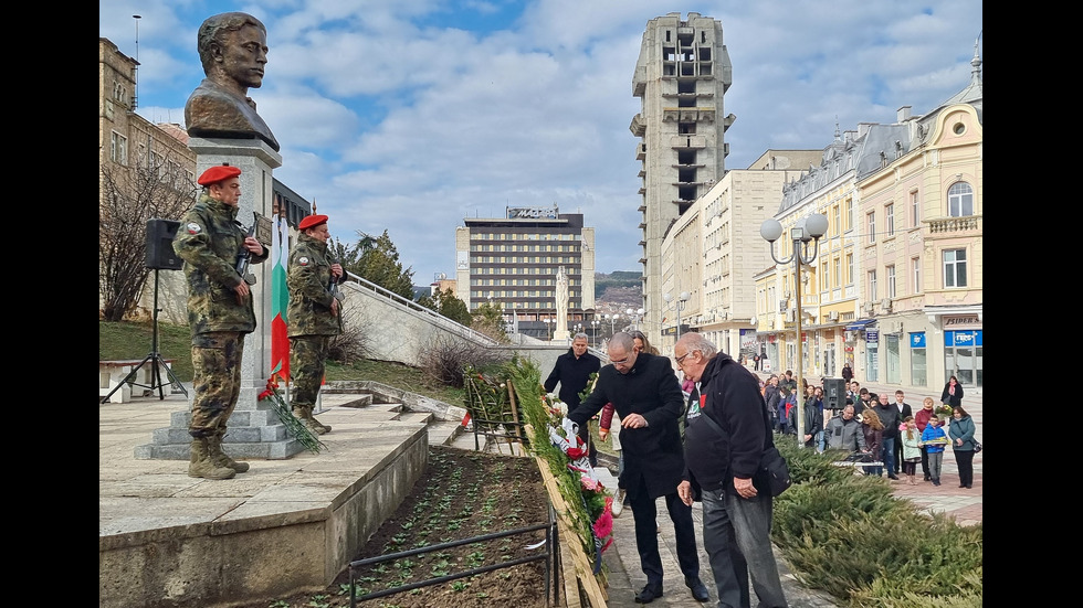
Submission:
{"label": "camouflage jacket of the soldier beside the flag", "polygon": [[[290,337],[338,335],[341,332],[338,317],[330,313],[330,302],[335,299],[330,291],[330,265],[327,244],[301,233],[290,252],[286,278],[290,288],[286,333]],[[339,282],[345,279],[344,273]],[[341,313],[341,306],[338,311]]]}

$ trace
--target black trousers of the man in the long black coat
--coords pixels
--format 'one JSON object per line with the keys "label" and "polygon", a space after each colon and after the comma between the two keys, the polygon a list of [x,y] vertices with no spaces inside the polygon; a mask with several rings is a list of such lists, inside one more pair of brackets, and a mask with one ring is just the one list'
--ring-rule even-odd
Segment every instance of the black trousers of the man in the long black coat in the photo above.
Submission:
{"label": "black trousers of the man in the long black coat", "polygon": [[[642,487],[640,488],[642,489]],[[646,575],[648,585],[662,585],[662,556],[658,550],[658,508],[655,499],[639,491],[628,495],[635,520],[635,548],[639,550],[640,567]],[[665,508],[670,512],[673,530],[676,533],[677,564],[685,577],[700,576],[700,553],[696,548],[695,525],[692,523],[692,508],[677,497],[676,487],[665,494]]]}

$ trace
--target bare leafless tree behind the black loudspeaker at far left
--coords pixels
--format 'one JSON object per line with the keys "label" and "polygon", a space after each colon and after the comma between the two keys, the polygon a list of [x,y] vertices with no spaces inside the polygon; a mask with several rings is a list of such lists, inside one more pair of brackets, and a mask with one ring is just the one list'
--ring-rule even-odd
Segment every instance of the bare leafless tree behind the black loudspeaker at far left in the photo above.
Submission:
{"label": "bare leafless tree behind the black loudspeaker at far left", "polygon": [[196,203],[196,183],[169,154],[150,154],[134,167],[101,167],[98,290],[102,318],[119,321],[146,286],[147,221],[179,220]]}

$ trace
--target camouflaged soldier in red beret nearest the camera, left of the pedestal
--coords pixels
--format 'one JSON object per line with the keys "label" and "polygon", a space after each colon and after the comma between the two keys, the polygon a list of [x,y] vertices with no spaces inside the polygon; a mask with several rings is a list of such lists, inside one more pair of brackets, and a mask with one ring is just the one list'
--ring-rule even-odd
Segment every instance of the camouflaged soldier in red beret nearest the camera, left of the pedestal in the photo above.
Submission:
{"label": "camouflaged soldier in red beret nearest the camera, left of the pedestal", "polygon": [[235,264],[242,248],[259,264],[270,252],[236,222],[241,183],[236,167],[211,167],[196,206],[180,221],[174,250],[185,260],[188,324],[192,331],[194,396],[188,434],[192,436],[190,477],[230,479],[249,470],[222,451],[225,423],[241,391],[244,334],[255,330],[249,284]]}

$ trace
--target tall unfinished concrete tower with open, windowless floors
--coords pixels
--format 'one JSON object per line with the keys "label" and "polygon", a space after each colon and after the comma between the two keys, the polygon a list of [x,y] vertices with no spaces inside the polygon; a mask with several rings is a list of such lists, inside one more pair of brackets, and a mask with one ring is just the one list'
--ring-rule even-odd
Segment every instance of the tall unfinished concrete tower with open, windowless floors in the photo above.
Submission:
{"label": "tall unfinished concrete tower with open, windowless floors", "polygon": [[726,172],[724,135],[735,116],[724,114],[723,96],[732,82],[721,21],[695,12],[682,20],[680,12],[671,12],[646,23],[632,76],[632,95],[642,107],[629,129],[640,138],[643,329],[652,340],[666,314],[662,239]]}

